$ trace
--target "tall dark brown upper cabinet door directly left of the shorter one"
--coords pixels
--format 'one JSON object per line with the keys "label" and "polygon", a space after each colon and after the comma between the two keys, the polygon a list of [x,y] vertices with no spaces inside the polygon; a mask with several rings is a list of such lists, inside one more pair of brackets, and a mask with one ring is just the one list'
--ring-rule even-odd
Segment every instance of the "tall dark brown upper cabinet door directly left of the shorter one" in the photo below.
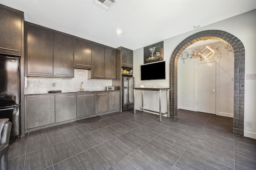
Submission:
{"label": "tall dark brown upper cabinet door directly left of the shorter one", "polygon": [[53,73],[57,77],[74,77],[74,38],[54,32]]}

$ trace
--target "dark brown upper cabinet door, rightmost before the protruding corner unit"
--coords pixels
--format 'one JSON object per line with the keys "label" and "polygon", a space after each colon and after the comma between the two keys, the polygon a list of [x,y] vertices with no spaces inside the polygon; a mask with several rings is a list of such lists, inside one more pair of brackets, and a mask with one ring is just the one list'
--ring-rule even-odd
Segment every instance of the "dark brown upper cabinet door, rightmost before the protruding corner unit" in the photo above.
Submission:
{"label": "dark brown upper cabinet door, rightmost before the protruding corner unit", "polygon": [[116,49],[105,47],[105,78],[116,79]]}

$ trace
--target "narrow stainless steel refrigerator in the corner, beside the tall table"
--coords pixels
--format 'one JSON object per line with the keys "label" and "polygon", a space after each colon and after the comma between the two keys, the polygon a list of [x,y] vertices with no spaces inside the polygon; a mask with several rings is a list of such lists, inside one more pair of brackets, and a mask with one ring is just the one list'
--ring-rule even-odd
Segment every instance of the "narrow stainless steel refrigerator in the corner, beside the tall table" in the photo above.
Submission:
{"label": "narrow stainless steel refrigerator in the corner, beside the tall table", "polygon": [[133,99],[133,88],[134,88],[134,78],[128,76],[122,76],[122,111],[133,109],[134,99]]}

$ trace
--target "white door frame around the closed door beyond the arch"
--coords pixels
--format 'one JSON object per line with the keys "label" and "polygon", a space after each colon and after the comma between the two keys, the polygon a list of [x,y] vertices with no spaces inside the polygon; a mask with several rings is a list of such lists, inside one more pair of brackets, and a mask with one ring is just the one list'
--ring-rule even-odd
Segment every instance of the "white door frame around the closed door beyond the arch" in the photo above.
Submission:
{"label": "white door frame around the closed door beyond the arch", "polygon": [[195,75],[195,81],[194,81],[194,106],[195,106],[195,110],[197,111],[197,64],[203,64],[203,63],[212,63],[215,62],[216,63],[216,104],[215,104],[215,114],[216,115],[220,115],[219,114],[219,91],[220,91],[220,60],[211,60],[211,61],[198,61],[194,63],[194,75]]}

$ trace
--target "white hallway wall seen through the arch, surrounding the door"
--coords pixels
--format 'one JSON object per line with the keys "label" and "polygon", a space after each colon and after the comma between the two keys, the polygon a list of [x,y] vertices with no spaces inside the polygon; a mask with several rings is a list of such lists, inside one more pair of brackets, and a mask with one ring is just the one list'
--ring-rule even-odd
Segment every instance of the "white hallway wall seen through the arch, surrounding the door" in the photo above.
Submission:
{"label": "white hallway wall seen through the arch, surrounding the door", "polygon": [[[206,44],[205,44],[206,45]],[[188,47],[185,49],[191,55],[195,49],[205,47]],[[234,111],[234,53],[228,52],[222,42],[208,44],[211,49],[217,49],[207,61],[200,57],[178,59],[178,109],[197,111],[196,107],[196,64],[216,61],[216,115],[233,117]],[[195,54],[196,55],[196,54]]]}

